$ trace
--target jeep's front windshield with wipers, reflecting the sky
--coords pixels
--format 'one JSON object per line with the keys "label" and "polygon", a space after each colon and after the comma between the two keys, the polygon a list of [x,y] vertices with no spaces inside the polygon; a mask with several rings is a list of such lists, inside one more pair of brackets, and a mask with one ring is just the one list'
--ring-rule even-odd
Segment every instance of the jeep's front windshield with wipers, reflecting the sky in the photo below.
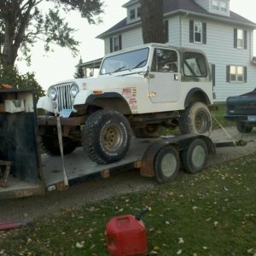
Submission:
{"label": "jeep's front windshield with wipers, reflecting the sky", "polygon": [[112,55],[104,59],[100,74],[112,74],[145,67],[148,62],[148,48]]}

